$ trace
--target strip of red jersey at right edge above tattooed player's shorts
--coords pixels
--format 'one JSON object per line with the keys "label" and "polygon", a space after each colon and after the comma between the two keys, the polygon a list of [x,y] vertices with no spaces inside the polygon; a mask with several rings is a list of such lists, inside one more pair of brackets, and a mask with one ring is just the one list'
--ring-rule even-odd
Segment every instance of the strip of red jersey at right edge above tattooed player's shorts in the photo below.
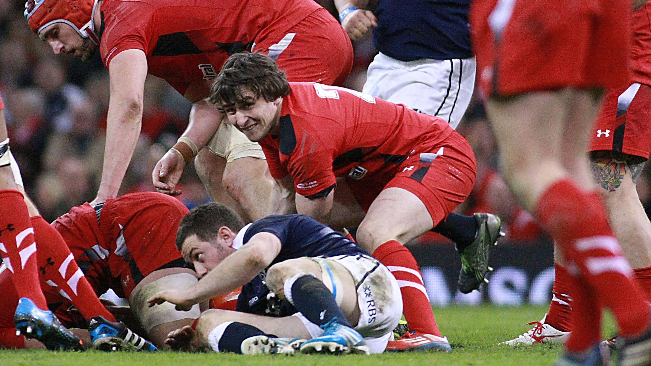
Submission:
{"label": "strip of red jersey at right edge above tattooed player's shorts", "polygon": [[631,25],[631,78],[637,83],[651,85],[651,3],[633,12]]}

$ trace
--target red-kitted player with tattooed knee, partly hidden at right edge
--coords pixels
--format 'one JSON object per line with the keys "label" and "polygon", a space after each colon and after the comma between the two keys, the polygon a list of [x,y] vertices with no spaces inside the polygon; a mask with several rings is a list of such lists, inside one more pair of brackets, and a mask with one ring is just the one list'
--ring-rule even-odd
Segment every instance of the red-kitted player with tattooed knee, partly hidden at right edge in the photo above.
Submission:
{"label": "red-kitted player with tattooed knee, partly hidden at right edge", "polygon": [[[590,161],[608,219],[633,267],[635,281],[651,302],[651,223],[637,195],[636,184],[651,154],[651,22],[646,4],[631,14],[634,42],[630,53],[634,81],[606,91],[592,128]],[[556,253],[559,253],[557,250]],[[570,275],[562,260],[555,263],[549,312],[535,326],[503,345],[560,343],[572,330]]]}

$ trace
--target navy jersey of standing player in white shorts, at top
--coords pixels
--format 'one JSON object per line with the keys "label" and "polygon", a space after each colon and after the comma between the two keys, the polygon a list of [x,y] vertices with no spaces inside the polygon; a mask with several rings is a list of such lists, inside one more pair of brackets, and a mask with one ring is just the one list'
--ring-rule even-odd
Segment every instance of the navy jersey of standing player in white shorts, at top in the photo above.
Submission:
{"label": "navy jersey of standing player in white shorts, at top", "polygon": [[470,0],[379,0],[373,45],[400,61],[472,57]]}

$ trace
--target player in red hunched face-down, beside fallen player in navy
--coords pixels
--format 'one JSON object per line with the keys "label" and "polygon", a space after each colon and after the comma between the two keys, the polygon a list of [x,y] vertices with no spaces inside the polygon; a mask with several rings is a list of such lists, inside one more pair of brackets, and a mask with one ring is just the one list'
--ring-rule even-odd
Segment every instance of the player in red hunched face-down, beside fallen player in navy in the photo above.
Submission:
{"label": "player in red hunched face-down, beside fallen player in navy", "polygon": [[[187,212],[174,197],[138,192],[94,207],[76,206],[52,223],[95,292],[113,289],[129,300],[146,337],[157,346],[164,345],[167,333],[191,324],[200,313],[199,305],[190,311],[176,311],[169,304],[146,306],[156,292],[197,282],[174,246],[178,223]],[[110,341],[122,345],[120,339]]]}

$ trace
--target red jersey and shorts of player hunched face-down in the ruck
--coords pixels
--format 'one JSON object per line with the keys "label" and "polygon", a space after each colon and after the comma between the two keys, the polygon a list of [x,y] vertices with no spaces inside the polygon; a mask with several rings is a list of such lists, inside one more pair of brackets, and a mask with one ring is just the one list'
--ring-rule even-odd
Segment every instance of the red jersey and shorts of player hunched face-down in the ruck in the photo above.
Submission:
{"label": "red jersey and shorts of player hunched face-down in the ruck", "polygon": [[[98,214],[90,204],[73,207],[56,219],[59,231],[79,266],[90,262],[118,277],[139,260],[141,272],[152,272],[180,257],[174,238],[189,212],[178,199],[156,192],[137,192],[107,199]],[[90,278],[89,278],[90,281]]]}

